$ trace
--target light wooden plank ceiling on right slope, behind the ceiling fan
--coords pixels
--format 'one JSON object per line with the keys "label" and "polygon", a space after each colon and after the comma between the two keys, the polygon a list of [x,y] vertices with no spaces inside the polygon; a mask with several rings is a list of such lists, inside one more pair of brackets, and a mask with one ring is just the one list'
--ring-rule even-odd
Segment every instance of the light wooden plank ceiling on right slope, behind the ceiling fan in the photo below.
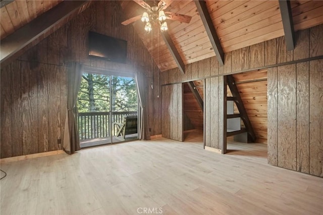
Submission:
{"label": "light wooden plank ceiling on right slope, behind the ceiling fan", "polygon": [[[224,52],[284,35],[278,1],[206,1],[206,5]],[[131,1],[121,6],[127,18],[145,11]],[[291,8],[295,31],[323,23],[323,1],[291,1]],[[192,16],[189,24],[167,20],[168,33],[185,64],[215,56],[193,1],[174,1],[166,11]],[[177,67],[158,26],[147,34],[140,20],[133,25],[161,71]]]}

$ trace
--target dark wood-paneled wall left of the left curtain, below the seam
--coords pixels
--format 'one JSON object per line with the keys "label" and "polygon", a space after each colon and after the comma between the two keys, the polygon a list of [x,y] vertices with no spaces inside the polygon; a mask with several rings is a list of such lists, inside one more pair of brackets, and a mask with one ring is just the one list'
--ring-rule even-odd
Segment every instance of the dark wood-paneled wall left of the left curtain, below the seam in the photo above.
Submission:
{"label": "dark wood-paneled wall left of the left curtain, below the seam", "polygon": [[66,67],[15,61],[4,68],[1,158],[61,149],[66,93]]}

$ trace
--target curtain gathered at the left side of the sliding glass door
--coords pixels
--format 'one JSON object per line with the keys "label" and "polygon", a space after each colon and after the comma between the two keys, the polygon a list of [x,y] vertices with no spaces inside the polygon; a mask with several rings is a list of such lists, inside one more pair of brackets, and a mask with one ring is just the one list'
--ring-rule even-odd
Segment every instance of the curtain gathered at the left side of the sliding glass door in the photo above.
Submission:
{"label": "curtain gathered at the left side of the sliding glass door", "polygon": [[80,150],[80,137],[75,119],[77,95],[80,90],[83,66],[73,62],[67,71],[67,115],[63,149],[68,154]]}

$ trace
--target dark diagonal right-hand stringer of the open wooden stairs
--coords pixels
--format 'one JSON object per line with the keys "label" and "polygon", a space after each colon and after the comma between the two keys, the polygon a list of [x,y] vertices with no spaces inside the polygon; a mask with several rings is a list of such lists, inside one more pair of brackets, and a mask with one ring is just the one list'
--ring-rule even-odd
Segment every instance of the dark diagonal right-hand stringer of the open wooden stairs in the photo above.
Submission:
{"label": "dark diagonal right-hand stringer of the open wooden stairs", "polygon": [[[240,117],[247,129],[248,135],[251,137],[251,141],[254,142],[256,140],[256,134],[254,133],[254,130],[253,130],[251,122],[249,120],[247,111],[244,108],[242,98],[240,96],[239,90],[237,88],[237,85],[234,82],[234,78],[232,75],[227,76],[227,83],[229,85],[229,88],[231,90],[233,97],[236,98],[235,102],[236,102],[237,108],[239,110]],[[227,88],[226,85],[225,85],[225,88]]]}

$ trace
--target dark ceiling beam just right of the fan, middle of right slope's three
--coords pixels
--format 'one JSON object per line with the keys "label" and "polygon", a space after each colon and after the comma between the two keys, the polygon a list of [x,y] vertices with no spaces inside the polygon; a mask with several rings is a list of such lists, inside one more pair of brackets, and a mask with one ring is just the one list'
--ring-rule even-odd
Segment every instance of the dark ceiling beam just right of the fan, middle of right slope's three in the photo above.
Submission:
{"label": "dark ceiling beam just right of the fan, middle of right slope's three", "polygon": [[197,11],[201,17],[202,23],[205,27],[207,36],[212,44],[213,50],[221,66],[224,65],[224,51],[222,49],[220,39],[217,35],[216,28],[214,28],[210,14],[208,13],[205,1],[194,1]]}

